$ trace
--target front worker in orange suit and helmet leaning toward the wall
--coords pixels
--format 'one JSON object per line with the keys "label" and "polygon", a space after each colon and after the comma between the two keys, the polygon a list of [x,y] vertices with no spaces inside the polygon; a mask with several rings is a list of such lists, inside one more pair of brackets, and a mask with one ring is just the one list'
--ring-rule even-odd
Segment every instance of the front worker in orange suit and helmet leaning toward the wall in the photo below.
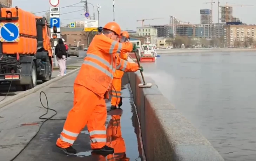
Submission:
{"label": "front worker in orange suit and helmet leaning toward the wall", "polygon": [[75,154],[72,147],[80,131],[87,125],[91,149],[113,153],[107,146],[105,121],[107,107],[105,99],[115,70],[143,70],[136,63],[129,63],[115,56],[118,52],[130,52],[136,47],[130,42],[119,43],[121,28],[109,22],[101,34],[95,35],[87,50],[87,56],[74,82],[74,105],[68,112],[63,130],[56,146],[66,154]]}

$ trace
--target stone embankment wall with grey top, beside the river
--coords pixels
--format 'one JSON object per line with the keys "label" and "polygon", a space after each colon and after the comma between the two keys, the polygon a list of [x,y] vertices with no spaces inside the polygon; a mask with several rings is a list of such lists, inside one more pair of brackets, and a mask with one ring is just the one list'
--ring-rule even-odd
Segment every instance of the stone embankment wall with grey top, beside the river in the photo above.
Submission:
{"label": "stone embankment wall with grey top, beside the river", "polygon": [[163,96],[153,79],[139,88],[140,72],[129,72],[147,161],[224,161],[210,142]]}

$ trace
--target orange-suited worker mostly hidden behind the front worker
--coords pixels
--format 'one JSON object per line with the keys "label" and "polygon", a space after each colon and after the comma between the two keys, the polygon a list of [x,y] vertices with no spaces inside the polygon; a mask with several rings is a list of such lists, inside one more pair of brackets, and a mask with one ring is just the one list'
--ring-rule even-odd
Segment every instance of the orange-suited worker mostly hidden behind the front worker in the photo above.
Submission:
{"label": "orange-suited worker mostly hidden behind the front worker", "polygon": [[[119,41],[121,43],[129,41],[129,33],[127,31],[122,31],[121,32],[121,38]],[[128,53],[123,53],[121,52],[120,54],[116,54],[119,56],[121,59],[127,60],[128,59]],[[110,91],[112,94],[111,98],[111,110],[117,109],[116,106],[121,107],[122,106],[122,97],[121,97],[121,83],[122,83],[122,76],[123,76],[123,71],[121,70],[116,70],[114,73],[114,78],[112,82],[112,86],[110,87]]]}

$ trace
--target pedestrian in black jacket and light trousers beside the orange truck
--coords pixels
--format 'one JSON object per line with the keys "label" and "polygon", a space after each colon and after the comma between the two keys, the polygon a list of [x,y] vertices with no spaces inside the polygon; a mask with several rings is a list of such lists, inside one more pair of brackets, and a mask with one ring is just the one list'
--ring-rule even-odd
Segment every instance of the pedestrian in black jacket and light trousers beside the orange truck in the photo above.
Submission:
{"label": "pedestrian in black jacket and light trousers beside the orange truck", "polygon": [[60,38],[59,43],[55,47],[55,55],[58,61],[58,65],[60,68],[60,76],[64,76],[65,70],[66,70],[66,47]]}

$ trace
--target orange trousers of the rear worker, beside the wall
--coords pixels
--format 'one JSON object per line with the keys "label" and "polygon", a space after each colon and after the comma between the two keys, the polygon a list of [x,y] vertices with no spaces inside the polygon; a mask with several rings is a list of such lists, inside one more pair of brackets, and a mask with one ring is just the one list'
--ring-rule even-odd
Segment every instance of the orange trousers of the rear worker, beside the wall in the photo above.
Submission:
{"label": "orange trousers of the rear worker, beside the wall", "polygon": [[112,86],[110,88],[111,90],[111,105],[112,106],[118,106],[120,103],[120,98],[121,98],[121,83],[122,83],[122,78],[113,78],[112,81]]}

